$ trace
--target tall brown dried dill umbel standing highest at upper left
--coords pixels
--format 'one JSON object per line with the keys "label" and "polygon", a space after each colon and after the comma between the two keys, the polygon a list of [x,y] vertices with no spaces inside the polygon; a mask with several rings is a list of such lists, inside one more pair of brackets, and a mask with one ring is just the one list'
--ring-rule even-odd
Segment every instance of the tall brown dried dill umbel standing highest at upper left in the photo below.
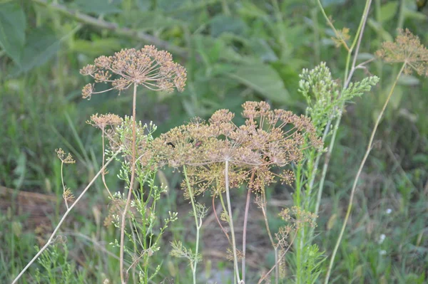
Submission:
{"label": "tall brown dried dill umbel standing highest at upper left", "polygon": [[[111,83],[109,90],[128,89],[131,85],[142,85],[150,90],[172,92],[174,88],[182,92],[186,81],[185,68],[173,62],[168,51],[158,51],[154,46],[122,49],[114,56],[100,56],[93,64],[80,70],[82,75],[89,75],[96,83]],[[112,75],[118,77],[112,78]],[[89,83],[83,87],[83,98],[91,98],[95,92],[94,85]]]}

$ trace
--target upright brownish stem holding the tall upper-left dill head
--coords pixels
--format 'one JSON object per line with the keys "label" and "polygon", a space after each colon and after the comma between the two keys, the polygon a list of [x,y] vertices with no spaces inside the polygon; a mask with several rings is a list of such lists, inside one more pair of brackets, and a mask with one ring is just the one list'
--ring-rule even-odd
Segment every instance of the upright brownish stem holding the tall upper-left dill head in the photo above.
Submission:
{"label": "upright brownish stem holding the tall upper-left dill head", "polygon": [[120,273],[121,273],[121,282],[125,284],[125,276],[123,275],[123,248],[125,246],[125,226],[126,226],[126,213],[128,211],[128,206],[131,203],[133,183],[136,175],[136,100],[137,100],[137,84],[134,84],[133,88],[133,101],[132,101],[132,157],[131,157],[131,181],[129,182],[128,197],[126,198],[125,208],[122,213],[121,221],[121,248],[119,258],[120,263]]}

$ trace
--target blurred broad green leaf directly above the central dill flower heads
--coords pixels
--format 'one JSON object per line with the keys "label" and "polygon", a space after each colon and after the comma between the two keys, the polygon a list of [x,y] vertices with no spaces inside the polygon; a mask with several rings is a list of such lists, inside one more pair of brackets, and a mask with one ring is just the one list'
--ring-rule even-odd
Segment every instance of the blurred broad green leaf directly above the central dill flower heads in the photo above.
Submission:
{"label": "blurred broad green leaf directly above the central dill flower heads", "polygon": [[263,63],[247,63],[238,66],[231,78],[252,88],[263,97],[275,102],[290,103],[290,94],[280,78],[280,75],[270,65]]}

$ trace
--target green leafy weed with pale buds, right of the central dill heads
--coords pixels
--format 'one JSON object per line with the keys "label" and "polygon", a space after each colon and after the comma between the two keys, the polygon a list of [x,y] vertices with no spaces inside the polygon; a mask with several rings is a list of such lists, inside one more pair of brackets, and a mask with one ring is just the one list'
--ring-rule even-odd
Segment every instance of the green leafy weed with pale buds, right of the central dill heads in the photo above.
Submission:
{"label": "green leafy weed with pale buds, right of the central dill heads", "polygon": [[[312,70],[304,69],[300,74],[299,92],[307,102],[306,113],[312,118],[317,135],[327,140],[332,135],[331,120],[340,116],[340,107],[345,102],[369,92],[376,85],[379,78],[370,76],[360,82],[351,82],[340,92],[337,80],[332,78],[326,63],[320,63]],[[293,202],[306,211],[318,215],[322,191],[315,189],[315,178],[320,158],[325,151],[306,149],[305,159],[296,164],[296,190]],[[315,217],[316,218],[316,217]],[[313,226],[303,226],[295,240],[294,261],[296,283],[314,283],[321,273],[320,264],[323,261],[322,252],[314,241]]]}

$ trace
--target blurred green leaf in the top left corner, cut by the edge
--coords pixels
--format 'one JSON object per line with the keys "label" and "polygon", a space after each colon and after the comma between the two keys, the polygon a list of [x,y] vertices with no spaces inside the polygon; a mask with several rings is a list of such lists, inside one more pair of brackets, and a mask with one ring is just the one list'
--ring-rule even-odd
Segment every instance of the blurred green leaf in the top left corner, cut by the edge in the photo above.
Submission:
{"label": "blurred green leaf in the top left corner, cut by the edge", "polygon": [[0,46],[19,65],[25,44],[26,18],[18,1],[0,4]]}

